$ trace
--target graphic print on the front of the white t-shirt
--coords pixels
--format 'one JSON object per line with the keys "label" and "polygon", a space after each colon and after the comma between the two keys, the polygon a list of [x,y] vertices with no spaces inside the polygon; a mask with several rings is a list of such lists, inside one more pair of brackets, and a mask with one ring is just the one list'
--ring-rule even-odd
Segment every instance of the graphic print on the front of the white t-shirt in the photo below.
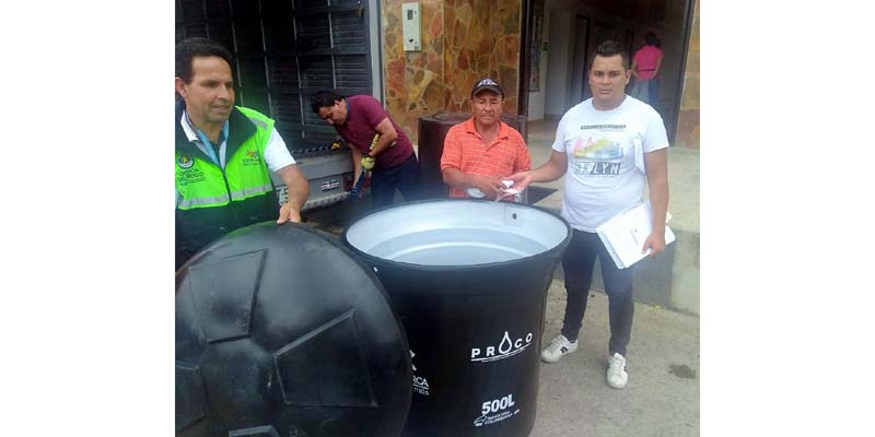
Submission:
{"label": "graphic print on the front of the white t-shirt", "polygon": [[583,133],[572,149],[571,170],[584,177],[616,177],[620,174],[622,145],[607,132],[622,132],[625,125],[581,126]]}

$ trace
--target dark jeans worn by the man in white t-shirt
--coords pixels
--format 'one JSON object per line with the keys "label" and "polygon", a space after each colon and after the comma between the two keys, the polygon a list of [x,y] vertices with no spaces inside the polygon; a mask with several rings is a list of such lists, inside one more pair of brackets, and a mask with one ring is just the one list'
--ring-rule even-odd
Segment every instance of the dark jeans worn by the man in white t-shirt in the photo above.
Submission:
{"label": "dark jeans worn by the man in white t-shirt", "polygon": [[593,282],[595,258],[602,265],[602,280],[608,295],[608,316],[610,318],[610,343],[608,353],[626,356],[626,346],[632,333],[634,303],[632,302],[632,268],[617,269],[610,259],[598,234],[574,229],[565,252],[562,255],[562,270],[565,273],[565,317],[562,335],[569,341],[578,340],[586,311],[586,299]]}

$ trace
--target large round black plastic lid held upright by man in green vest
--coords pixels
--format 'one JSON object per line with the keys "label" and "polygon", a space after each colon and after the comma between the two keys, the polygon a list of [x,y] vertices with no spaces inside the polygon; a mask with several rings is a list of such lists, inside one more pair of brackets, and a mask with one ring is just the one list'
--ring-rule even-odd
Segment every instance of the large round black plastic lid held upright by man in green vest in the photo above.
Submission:
{"label": "large round black plastic lid held upright by man in green vest", "polygon": [[385,291],[305,226],[262,223],[176,277],[178,436],[397,436],[407,341]]}

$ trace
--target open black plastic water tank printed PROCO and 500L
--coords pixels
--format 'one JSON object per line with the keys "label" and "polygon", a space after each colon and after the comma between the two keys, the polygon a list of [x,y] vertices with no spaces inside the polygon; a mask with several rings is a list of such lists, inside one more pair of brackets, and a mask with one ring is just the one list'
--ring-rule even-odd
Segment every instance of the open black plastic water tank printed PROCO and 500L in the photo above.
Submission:
{"label": "open black plastic water tank printed PROCO and 500L", "polygon": [[404,435],[528,435],[568,223],[527,205],[432,200],[372,212],[342,239],[374,268],[407,332],[413,400]]}

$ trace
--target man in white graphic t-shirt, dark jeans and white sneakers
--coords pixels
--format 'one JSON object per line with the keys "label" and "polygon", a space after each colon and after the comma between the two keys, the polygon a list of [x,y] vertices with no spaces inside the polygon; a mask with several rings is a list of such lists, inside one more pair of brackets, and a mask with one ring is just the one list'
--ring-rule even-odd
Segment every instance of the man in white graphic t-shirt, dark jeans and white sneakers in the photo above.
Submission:
{"label": "man in white graphic t-shirt, dark jeans and white sneakers", "polygon": [[653,233],[642,253],[665,250],[665,214],[668,208],[668,140],[660,115],[645,103],[626,95],[629,58],[620,46],[607,40],[590,61],[593,97],[569,109],[559,121],[552,155],[542,166],[509,177],[513,188],[547,182],[568,173],[562,197],[562,216],[573,228],[571,244],[562,256],[568,302],[562,332],[541,353],[548,363],[578,350],[586,297],[595,259],[602,265],[608,295],[610,342],[607,382],[626,387],[626,347],[632,331],[632,268],[617,269],[596,227],[641,202],[644,182],[650,188]]}

